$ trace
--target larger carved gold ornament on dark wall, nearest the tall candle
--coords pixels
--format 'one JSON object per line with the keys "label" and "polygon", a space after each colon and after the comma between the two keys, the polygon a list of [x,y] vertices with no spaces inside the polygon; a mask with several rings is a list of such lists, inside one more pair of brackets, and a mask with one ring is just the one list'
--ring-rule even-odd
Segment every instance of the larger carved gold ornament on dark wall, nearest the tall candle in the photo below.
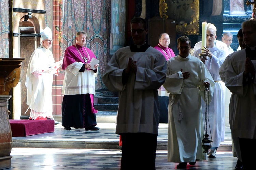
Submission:
{"label": "larger carved gold ornament on dark wall, nearest the tall candle", "polygon": [[181,35],[199,35],[199,0],[195,0],[191,4],[191,9],[194,12],[191,15],[189,24],[183,22],[176,25],[176,32]]}

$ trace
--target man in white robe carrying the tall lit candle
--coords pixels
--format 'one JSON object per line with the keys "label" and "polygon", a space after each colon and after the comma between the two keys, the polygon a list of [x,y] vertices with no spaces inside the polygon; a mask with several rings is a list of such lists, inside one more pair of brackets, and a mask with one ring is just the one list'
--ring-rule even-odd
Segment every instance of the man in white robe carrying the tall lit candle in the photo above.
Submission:
{"label": "man in white robe carrying the tall lit candle", "polygon": [[[209,70],[213,80],[215,81],[215,89],[213,93],[212,102],[209,105],[209,123],[211,129],[212,145],[209,157],[216,157],[216,151],[221,142],[224,141],[225,135],[225,97],[223,87],[221,85],[221,78],[219,77],[219,68],[226,58],[226,52],[219,49],[214,41],[216,39],[216,32],[212,28],[206,30],[206,49],[201,51],[201,48],[194,52],[194,56],[199,58],[199,54],[206,55],[201,61]],[[203,116],[205,120],[205,107],[202,104]]]}

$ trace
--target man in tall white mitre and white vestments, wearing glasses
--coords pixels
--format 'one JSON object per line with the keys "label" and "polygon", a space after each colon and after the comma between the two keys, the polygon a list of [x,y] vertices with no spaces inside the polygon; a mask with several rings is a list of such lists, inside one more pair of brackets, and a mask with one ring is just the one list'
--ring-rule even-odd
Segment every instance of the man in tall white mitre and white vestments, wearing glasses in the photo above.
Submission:
{"label": "man in tall white mitre and white vestments, wearing glasses", "polygon": [[[42,45],[31,55],[25,85],[27,87],[27,105],[30,107],[29,119],[54,119],[52,84],[53,75],[58,75],[63,60],[54,61],[52,47],[52,31],[46,27],[41,32]],[[54,120],[55,125],[59,124]]]}

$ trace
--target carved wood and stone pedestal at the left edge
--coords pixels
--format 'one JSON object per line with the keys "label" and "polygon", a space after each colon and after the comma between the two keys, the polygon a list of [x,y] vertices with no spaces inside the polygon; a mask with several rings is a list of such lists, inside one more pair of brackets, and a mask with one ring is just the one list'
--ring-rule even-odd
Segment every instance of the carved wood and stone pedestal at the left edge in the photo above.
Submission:
{"label": "carved wood and stone pedestal at the left edge", "polygon": [[21,62],[25,58],[0,58],[0,169],[11,168],[12,131],[9,121],[9,92],[20,78]]}

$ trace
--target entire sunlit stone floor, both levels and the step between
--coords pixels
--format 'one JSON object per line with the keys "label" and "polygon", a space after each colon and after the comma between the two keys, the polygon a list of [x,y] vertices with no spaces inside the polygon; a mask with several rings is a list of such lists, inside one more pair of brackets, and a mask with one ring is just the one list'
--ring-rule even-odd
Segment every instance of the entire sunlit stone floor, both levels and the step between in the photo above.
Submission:
{"label": "entire sunlit stone floor, both levels and the step between", "polygon": [[[108,122],[102,116],[97,117],[99,131],[74,128],[65,130],[58,124],[52,133],[13,137],[10,169],[120,169],[121,152],[119,135],[115,134],[116,124],[112,120],[109,121],[111,123],[102,123],[101,119]],[[114,115],[109,116],[113,116],[115,120]],[[237,158],[231,152],[230,128],[226,127],[225,130],[225,141],[218,148],[217,158],[198,161],[195,166],[188,165],[187,169],[234,169]],[[157,170],[176,169],[178,164],[167,162],[167,137],[168,124],[160,123],[156,152]],[[141,141],[138,141],[138,145],[141,145]],[[135,165],[134,168],[136,169]]]}

